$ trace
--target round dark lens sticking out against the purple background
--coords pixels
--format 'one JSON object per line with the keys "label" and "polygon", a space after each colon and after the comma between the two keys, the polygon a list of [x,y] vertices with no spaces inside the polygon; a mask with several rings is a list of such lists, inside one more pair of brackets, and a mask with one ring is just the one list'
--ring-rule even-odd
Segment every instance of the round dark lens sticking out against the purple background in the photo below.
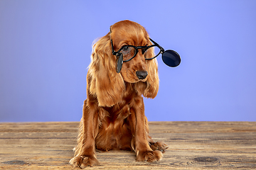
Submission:
{"label": "round dark lens sticking out against the purple background", "polygon": [[162,55],[162,59],[169,67],[177,67],[181,63],[181,57],[174,50],[166,50]]}

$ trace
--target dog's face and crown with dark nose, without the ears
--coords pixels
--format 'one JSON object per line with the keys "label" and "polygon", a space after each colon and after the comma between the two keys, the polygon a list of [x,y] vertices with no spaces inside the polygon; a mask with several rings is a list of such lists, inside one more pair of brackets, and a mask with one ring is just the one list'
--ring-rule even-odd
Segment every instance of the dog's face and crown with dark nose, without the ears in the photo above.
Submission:
{"label": "dog's face and crown with dark nose, without the ears", "polygon": [[[140,26],[138,23],[134,23],[132,21],[120,21],[119,23],[115,23],[114,26],[111,27],[112,33],[112,45],[114,47],[114,51],[118,51],[122,47],[126,47],[127,45],[133,46],[146,46],[151,45],[151,41],[149,40],[149,35],[146,33],[145,28]],[[135,51],[133,47],[132,51]],[[148,75],[148,61],[145,60],[145,55],[153,55],[152,49],[146,50],[146,54],[143,52],[144,49],[139,49],[137,55],[133,57],[129,54],[129,47],[127,49],[122,50],[123,60],[129,60],[129,62],[124,62],[123,67],[121,69],[121,74],[124,81],[135,83],[138,81],[146,81],[146,77]],[[131,53],[131,52],[130,52]]]}

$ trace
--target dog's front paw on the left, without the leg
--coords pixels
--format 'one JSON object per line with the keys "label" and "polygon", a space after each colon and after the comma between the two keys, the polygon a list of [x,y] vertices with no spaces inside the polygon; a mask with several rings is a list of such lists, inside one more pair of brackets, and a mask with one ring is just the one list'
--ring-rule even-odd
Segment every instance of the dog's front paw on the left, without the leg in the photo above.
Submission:
{"label": "dog's front paw on the left, without the leg", "polygon": [[70,164],[72,164],[74,168],[80,167],[81,169],[84,169],[87,166],[94,166],[100,163],[93,156],[91,157],[91,156],[78,155],[76,157],[73,157],[73,159],[70,159]]}

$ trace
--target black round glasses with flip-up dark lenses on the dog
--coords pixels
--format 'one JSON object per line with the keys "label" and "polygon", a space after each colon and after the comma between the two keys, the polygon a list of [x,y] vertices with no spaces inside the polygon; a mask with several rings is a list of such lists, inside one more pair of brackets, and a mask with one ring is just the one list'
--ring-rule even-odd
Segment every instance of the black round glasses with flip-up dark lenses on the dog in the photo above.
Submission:
{"label": "black round glasses with flip-up dark lenses on the dog", "polygon": [[[139,50],[142,50],[142,55],[144,55],[145,60],[152,60],[161,54],[162,60],[169,67],[177,67],[181,63],[181,57],[178,55],[177,52],[175,52],[174,50],[164,50],[164,48],[161,47],[154,40],[152,40],[151,38],[149,38],[149,40],[153,42],[153,45],[146,45],[146,46],[124,45],[116,52],[114,51],[114,45],[111,39],[111,28],[110,28],[110,42],[112,47],[112,55],[117,56],[117,62],[116,62],[117,73],[121,71],[123,62],[129,62],[130,60],[132,60],[137,55]],[[152,49],[154,49],[154,54],[155,54],[154,57],[147,54],[147,52]]]}

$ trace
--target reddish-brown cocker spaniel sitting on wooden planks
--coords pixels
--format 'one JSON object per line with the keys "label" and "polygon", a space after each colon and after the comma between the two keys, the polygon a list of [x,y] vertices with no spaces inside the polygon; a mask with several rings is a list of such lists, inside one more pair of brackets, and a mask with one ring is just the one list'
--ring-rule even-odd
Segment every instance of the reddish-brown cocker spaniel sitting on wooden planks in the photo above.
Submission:
{"label": "reddish-brown cocker spaniel sitting on wooden planks", "polygon": [[[151,139],[144,114],[142,95],[154,98],[159,90],[156,58],[146,60],[154,57],[154,49],[146,49],[152,45],[149,34],[128,20],[110,28],[110,33],[93,45],[87,72],[87,99],[75,155],[70,159],[70,164],[82,169],[99,164],[96,149],[133,150],[137,161],[156,162],[168,148]],[[123,62],[132,51],[129,45],[137,47],[137,53]],[[120,64],[122,69],[117,70]]]}

